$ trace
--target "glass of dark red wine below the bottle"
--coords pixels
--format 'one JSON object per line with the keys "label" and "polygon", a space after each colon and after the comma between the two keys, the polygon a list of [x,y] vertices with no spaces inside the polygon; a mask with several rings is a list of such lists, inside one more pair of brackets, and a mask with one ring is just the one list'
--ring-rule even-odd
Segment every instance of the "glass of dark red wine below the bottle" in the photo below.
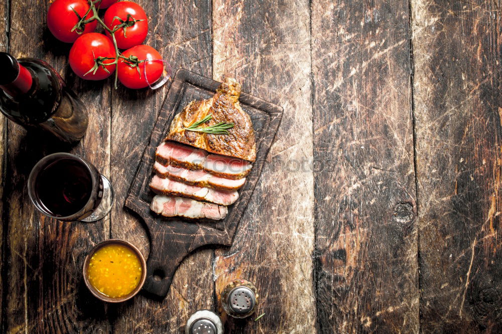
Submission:
{"label": "glass of dark red wine below the bottle", "polygon": [[94,222],[113,203],[111,184],[95,166],[70,153],[42,158],[28,178],[28,194],[44,215],[67,222]]}

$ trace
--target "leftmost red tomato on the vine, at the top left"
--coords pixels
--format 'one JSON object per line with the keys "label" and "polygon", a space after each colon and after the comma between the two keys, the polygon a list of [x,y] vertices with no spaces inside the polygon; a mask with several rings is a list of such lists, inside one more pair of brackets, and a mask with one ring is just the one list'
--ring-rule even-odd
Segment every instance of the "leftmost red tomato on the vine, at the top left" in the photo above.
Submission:
{"label": "leftmost red tomato on the vine, at the top left", "polygon": [[[47,26],[52,35],[58,40],[73,43],[82,34],[92,33],[96,29],[96,20],[89,22],[82,29],[73,27],[80,21],[75,12],[82,18],[89,10],[89,4],[85,0],[56,0],[49,7],[47,12]],[[86,16],[86,19],[92,17],[92,11]],[[80,34],[79,34],[80,32]]]}

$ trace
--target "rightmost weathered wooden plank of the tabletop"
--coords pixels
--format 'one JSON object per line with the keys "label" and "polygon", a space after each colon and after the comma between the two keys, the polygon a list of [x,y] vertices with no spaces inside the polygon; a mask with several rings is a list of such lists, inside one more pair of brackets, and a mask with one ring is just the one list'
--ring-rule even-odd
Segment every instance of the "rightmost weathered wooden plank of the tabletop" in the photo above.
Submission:
{"label": "rightmost weathered wooden plank of the tabletop", "polygon": [[502,4],[411,4],[422,331],[500,332]]}

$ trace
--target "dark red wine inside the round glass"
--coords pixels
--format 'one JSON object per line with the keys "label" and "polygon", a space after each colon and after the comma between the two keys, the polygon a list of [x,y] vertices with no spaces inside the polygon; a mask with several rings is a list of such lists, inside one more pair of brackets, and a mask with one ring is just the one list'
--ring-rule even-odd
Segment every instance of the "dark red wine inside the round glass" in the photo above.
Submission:
{"label": "dark red wine inside the round glass", "polygon": [[40,172],[35,193],[45,209],[55,217],[71,216],[85,207],[92,192],[92,176],[87,166],[72,158],[61,158]]}

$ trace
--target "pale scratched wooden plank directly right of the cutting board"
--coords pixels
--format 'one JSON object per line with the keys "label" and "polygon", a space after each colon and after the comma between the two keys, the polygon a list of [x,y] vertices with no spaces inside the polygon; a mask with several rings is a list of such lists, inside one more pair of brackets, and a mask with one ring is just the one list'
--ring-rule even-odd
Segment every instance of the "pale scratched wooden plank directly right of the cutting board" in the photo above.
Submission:
{"label": "pale scratched wooden plank directly right of the cutting board", "polygon": [[[216,295],[234,278],[260,292],[259,321],[226,317],[232,333],[315,332],[308,1],[213,2],[213,79],[284,107],[281,127],[230,249],[216,250]],[[294,169],[294,167],[293,167]],[[221,311],[221,309],[220,309]]]}

